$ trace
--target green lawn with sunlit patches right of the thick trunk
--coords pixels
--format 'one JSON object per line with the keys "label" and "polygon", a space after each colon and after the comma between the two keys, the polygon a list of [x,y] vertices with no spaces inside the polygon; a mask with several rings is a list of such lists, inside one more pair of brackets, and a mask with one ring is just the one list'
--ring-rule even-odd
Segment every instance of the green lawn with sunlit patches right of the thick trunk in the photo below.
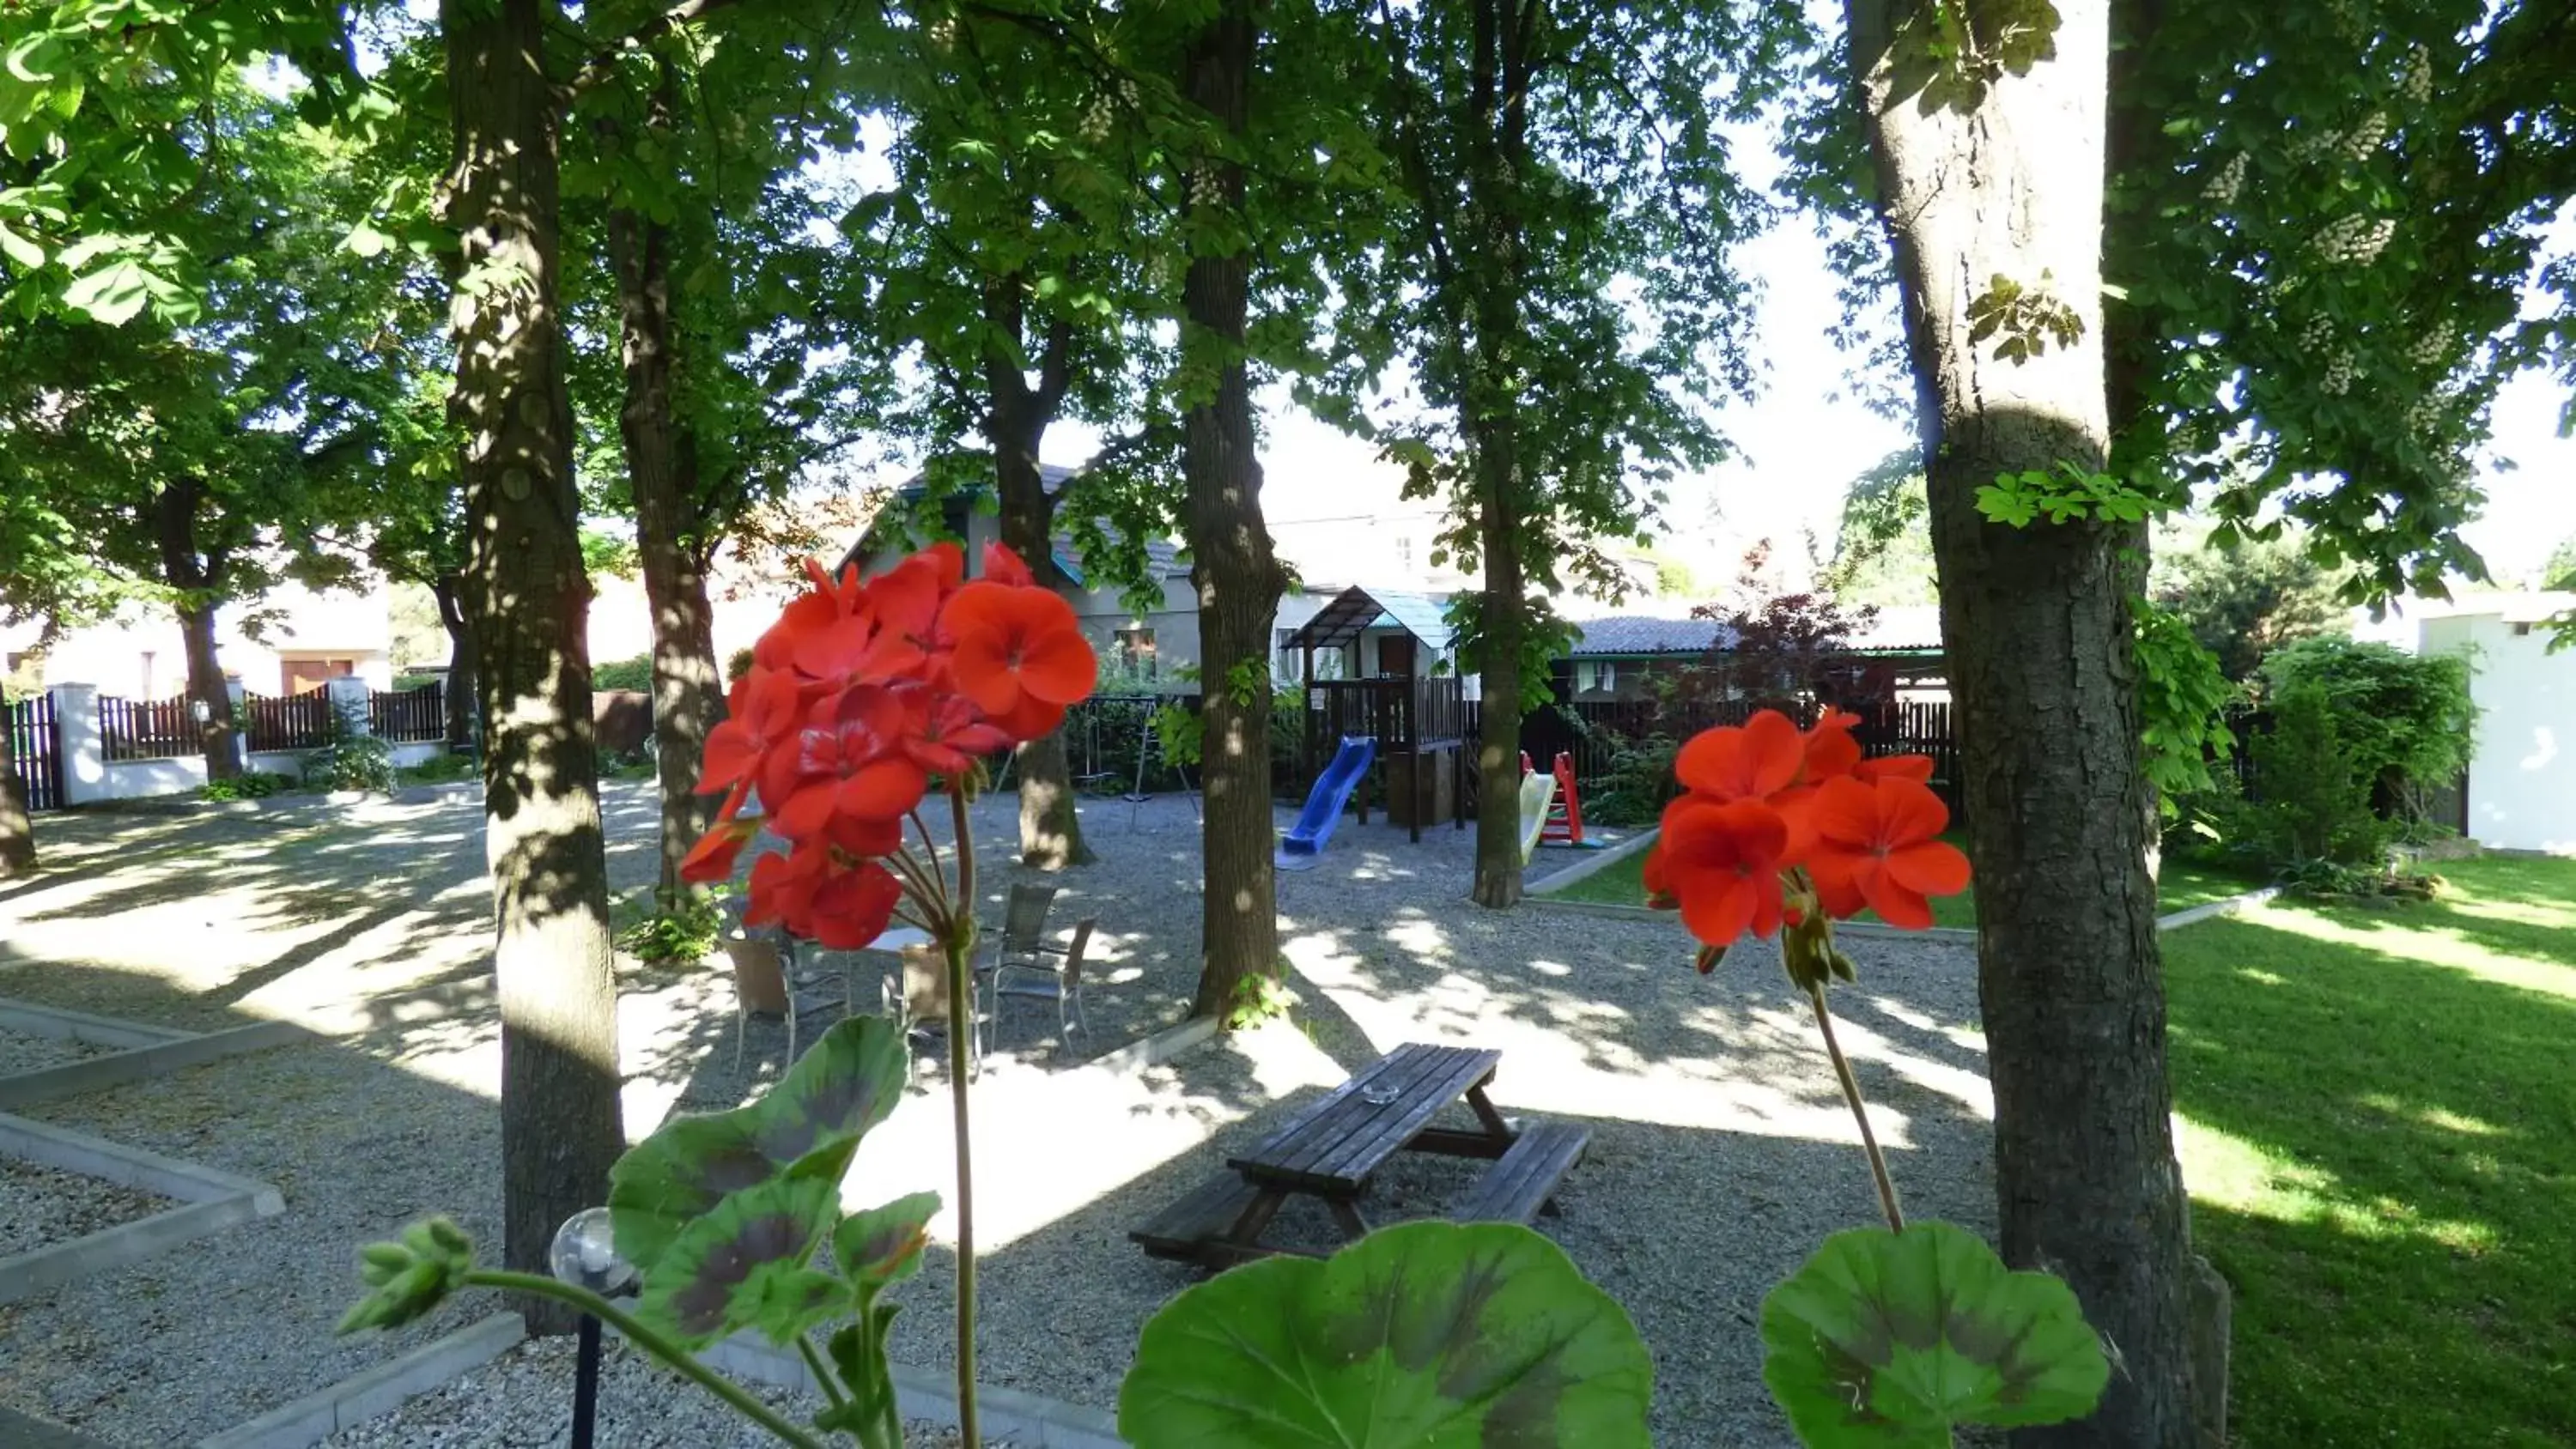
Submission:
{"label": "green lawn with sunlit patches right of the thick trunk", "polygon": [[2239,1444],[2576,1444],[2576,860],[2164,937]]}

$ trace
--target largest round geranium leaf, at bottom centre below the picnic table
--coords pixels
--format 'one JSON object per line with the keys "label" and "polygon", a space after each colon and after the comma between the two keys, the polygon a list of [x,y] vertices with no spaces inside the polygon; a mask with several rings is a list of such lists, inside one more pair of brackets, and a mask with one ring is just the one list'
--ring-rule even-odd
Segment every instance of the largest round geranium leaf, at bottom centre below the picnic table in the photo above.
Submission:
{"label": "largest round geranium leaf, at bottom centre below the picnic table", "polygon": [[1643,1449],[1651,1385],[1636,1325],[1556,1243],[1406,1223],[1172,1300],[1136,1343],[1118,1434],[1136,1449]]}

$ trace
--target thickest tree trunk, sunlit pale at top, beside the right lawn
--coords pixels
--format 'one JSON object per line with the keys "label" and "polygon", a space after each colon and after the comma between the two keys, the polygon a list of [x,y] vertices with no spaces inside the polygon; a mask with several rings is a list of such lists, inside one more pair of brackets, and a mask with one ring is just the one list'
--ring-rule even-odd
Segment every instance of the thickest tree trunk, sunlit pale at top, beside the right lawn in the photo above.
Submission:
{"label": "thickest tree trunk, sunlit pale at top, beside the right lawn", "polygon": [[[2053,54],[1927,103],[1929,15],[1850,0],[1932,481],[1958,700],[2004,1256],[2045,1266],[2125,1361],[2079,1426],[2017,1444],[2192,1444],[2190,1243],[2146,875],[2130,530],[2004,528],[1996,474],[2110,450],[2099,327],[2107,0],[2058,0]],[[1899,80],[1911,77],[1911,80]],[[2084,322],[2027,365],[1968,340],[1989,278]]]}

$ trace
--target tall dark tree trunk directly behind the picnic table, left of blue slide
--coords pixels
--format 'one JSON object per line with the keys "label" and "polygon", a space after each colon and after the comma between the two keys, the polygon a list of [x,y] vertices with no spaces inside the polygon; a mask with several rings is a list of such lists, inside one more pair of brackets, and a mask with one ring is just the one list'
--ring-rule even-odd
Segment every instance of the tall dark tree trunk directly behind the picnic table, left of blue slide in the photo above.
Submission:
{"label": "tall dark tree trunk directly behind the picnic table, left of blue slide", "polygon": [[[1190,103],[1242,134],[1260,39],[1252,0],[1221,0],[1182,59]],[[1193,208],[1242,214],[1242,165],[1200,157]],[[1270,818],[1270,623],[1285,571],[1262,520],[1262,463],[1252,440],[1244,373],[1244,314],[1252,265],[1239,247],[1198,255],[1182,283],[1182,347],[1211,358],[1216,391],[1182,417],[1190,582],[1198,589],[1198,651],[1206,746],[1200,754],[1206,896],[1193,1014],[1224,1017],[1247,981],[1278,970],[1278,867]]]}

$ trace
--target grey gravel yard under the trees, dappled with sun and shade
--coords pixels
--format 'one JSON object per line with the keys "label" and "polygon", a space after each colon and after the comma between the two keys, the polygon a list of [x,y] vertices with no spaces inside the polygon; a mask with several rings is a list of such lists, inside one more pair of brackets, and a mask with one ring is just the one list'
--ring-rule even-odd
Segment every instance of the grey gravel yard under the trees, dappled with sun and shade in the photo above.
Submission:
{"label": "grey gravel yard under the trees, dappled with sun and shade", "polygon": [[[649,880],[647,788],[613,785],[608,806],[613,878]],[[1036,878],[1002,865],[1012,808],[997,795],[976,811],[994,903],[1010,880]],[[1283,1104],[1399,1042],[1458,1040],[1502,1050],[1494,1096],[1507,1112],[1592,1127],[1564,1217],[1540,1230],[1638,1318],[1659,1356],[1656,1436],[1788,1441],[1759,1382],[1762,1292],[1826,1233],[1873,1220],[1873,1197],[1814,1022],[1767,950],[1741,947],[1698,978],[1672,921],[1468,906],[1473,831],[1412,844],[1383,821],[1345,821],[1316,870],[1280,875],[1293,1024],[1141,1078],[1064,1071],[1175,1019],[1198,968],[1190,803],[1151,800],[1131,824],[1123,800],[1092,800],[1084,824],[1103,860],[1054,878],[1054,921],[1100,916],[1095,1035],[1061,1050],[1051,1011],[1018,1006],[974,1091],[987,1382],[1113,1408],[1136,1328],[1195,1279],[1144,1259],[1126,1230],[1221,1171]],[[497,1048],[474,806],[67,826],[59,844],[41,826],[54,870],[0,896],[0,993],[173,1027],[278,1014],[343,1035],[39,1112],[276,1181],[289,1212],[0,1307],[0,1403],[162,1446],[489,1313],[477,1297],[394,1341],[330,1338],[358,1243],[430,1210],[492,1238]],[[214,891],[206,857],[224,862]],[[1839,1029],[1909,1210],[1991,1230],[1971,950],[1850,950],[1862,981],[1837,993]],[[634,1132],[672,1104],[724,1107],[775,1076],[775,1024],[755,1024],[747,1071],[732,1071],[721,968],[629,965],[623,991]],[[1437,1215],[1468,1171],[1399,1161],[1370,1220]],[[951,1174],[933,1068],[871,1135],[850,1197],[945,1194]],[[1329,1241],[1321,1215],[1291,1210],[1280,1225]],[[896,1356],[922,1367],[948,1356],[953,1225],[935,1223],[933,1238],[896,1323]]]}

